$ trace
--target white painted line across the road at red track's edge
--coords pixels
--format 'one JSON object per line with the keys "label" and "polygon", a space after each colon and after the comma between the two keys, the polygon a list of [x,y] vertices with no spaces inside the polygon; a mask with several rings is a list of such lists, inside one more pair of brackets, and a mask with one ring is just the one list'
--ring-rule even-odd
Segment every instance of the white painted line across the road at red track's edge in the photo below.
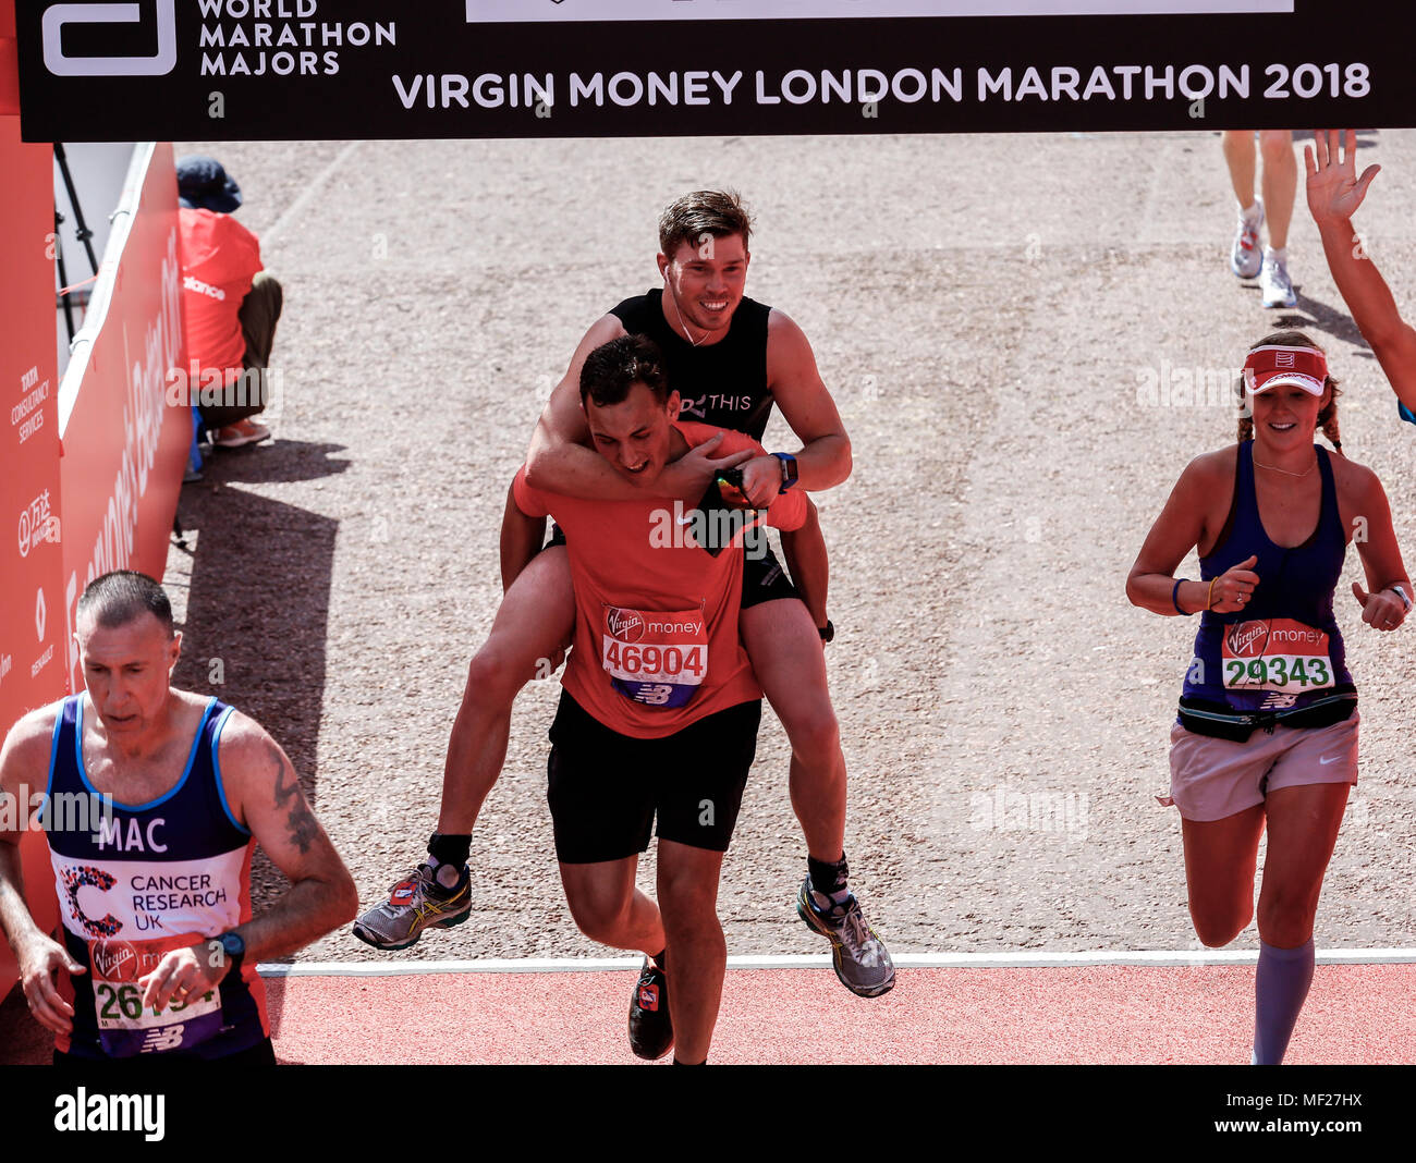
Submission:
{"label": "white painted line across the road at red track's edge", "polygon": [[[899,954],[898,969],[1076,969],[1093,965],[1253,965],[1249,949],[1099,949],[1095,952]],[[1416,965],[1416,949],[1320,949],[1318,965]],[[263,978],[389,978],[405,973],[575,973],[637,969],[640,958],[487,958],[484,961],[265,962]],[[827,969],[827,954],[729,956],[729,969]]]}

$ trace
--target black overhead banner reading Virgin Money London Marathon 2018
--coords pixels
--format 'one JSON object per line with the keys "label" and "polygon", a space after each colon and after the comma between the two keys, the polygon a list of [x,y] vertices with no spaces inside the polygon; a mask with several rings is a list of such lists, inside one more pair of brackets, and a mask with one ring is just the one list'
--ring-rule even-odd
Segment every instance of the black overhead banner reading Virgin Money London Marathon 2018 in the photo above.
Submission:
{"label": "black overhead banner reading Virgin Money London Marathon 2018", "polygon": [[17,0],[27,140],[1416,123],[1335,0]]}

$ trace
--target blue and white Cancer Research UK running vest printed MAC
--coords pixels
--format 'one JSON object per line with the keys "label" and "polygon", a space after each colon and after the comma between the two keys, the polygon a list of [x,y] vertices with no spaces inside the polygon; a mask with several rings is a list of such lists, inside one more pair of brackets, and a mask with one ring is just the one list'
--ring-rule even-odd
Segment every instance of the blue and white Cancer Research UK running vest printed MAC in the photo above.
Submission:
{"label": "blue and white Cancer Research UK running vest printed MAC", "polygon": [[[137,985],[167,951],[201,938],[204,955],[207,939],[251,920],[255,839],[231,815],[217,760],[231,707],[207,703],[171,791],[127,805],[99,797],[84,770],[84,698],[62,702],[50,751],[45,836],[54,887],[65,945],[88,968],[59,975],[74,1031],[58,1034],[57,1048],[89,1058],[173,1050],[218,1058],[248,1050],[270,1029],[255,965],[161,1012],[143,1007]],[[78,828],[72,805],[85,797],[98,798],[102,811]]]}

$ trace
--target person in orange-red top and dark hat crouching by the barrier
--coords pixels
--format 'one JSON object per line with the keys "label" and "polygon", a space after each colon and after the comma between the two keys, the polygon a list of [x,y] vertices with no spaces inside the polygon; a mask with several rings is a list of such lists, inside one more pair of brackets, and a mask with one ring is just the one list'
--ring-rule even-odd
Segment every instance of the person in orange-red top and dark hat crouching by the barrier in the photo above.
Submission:
{"label": "person in orange-red top and dark hat crouching by the barrier", "polygon": [[241,187],[214,157],[177,158],[183,314],[187,358],[201,372],[222,369],[219,403],[208,405],[208,381],[193,383],[202,426],[224,449],[253,444],[270,429],[251,417],[269,402],[270,345],[280,318],[280,284],[261,265],[256,236],[231,216]]}

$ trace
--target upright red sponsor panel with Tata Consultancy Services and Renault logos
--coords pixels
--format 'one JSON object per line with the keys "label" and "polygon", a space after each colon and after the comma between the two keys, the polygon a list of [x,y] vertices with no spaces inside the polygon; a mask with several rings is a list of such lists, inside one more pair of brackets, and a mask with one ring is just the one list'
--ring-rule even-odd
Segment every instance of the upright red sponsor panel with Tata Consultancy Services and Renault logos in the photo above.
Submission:
{"label": "upright red sponsor panel with Tata Consultancy Services and Renault logos", "polygon": [[[59,423],[54,335],[54,154],[0,117],[0,731],[65,693]],[[34,791],[42,791],[35,788]],[[41,927],[57,920],[45,845],[23,845]],[[16,980],[0,941],[0,997]]]}

